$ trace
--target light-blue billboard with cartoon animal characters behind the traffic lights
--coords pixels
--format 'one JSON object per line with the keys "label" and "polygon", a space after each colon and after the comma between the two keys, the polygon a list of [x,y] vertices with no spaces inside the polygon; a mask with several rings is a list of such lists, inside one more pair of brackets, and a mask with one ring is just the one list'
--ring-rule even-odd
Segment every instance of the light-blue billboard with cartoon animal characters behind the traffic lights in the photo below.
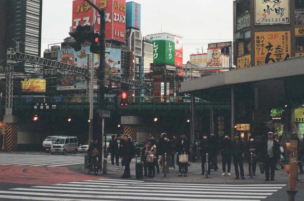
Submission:
{"label": "light-blue billboard with cartoon animal characters behind the traffic lights", "polygon": [[[105,71],[109,71],[109,74],[112,75],[120,75],[121,50],[114,48],[106,48],[106,50],[108,50],[110,54],[106,55],[105,57]],[[88,54],[90,54],[89,46],[82,47],[79,52],[75,52],[74,49],[59,50],[57,61],[75,65],[81,68],[90,68],[91,63],[89,63]],[[97,69],[99,67],[99,55],[93,55],[94,69]],[[69,72],[64,69],[57,70],[57,80],[57,90],[74,90],[87,88],[87,79],[83,75]],[[107,82],[105,82],[105,85],[107,86],[106,83]],[[94,78],[94,89],[97,89],[97,78]]]}

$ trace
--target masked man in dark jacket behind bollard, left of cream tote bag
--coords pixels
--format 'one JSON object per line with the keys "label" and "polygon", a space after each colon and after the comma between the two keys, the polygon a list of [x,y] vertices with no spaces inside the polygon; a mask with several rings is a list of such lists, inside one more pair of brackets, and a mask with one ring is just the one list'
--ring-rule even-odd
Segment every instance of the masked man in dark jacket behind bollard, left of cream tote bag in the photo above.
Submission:
{"label": "masked man in dark jacket behind bollard, left of cream tote bag", "polygon": [[[160,149],[161,149],[161,158],[163,159],[163,170],[167,171],[169,173],[169,167],[170,167],[170,158],[171,158],[171,152],[172,152],[172,144],[171,141],[168,139],[168,136],[166,133],[162,134],[164,140],[160,140]],[[167,154],[166,156],[166,162],[167,162],[167,167],[165,169],[165,153]]]}

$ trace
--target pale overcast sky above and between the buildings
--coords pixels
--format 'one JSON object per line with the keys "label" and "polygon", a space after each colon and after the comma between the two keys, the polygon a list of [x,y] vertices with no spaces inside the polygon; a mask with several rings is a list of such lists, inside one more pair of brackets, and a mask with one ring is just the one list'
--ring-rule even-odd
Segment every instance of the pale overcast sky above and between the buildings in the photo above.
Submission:
{"label": "pale overcast sky above and between the buildings", "polygon": [[[91,0],[93,2],[93,0]],[[96,0],[97,2],[98,0]],[[130,2],[130,0],[126,0]],[[183,37],[183,64],[208,43],[233,40],[233,0],[133,0],[141,5],[141,34],[168,32]],[[63,42],[72,25],[73,0],[43,0],[41,56]]]}

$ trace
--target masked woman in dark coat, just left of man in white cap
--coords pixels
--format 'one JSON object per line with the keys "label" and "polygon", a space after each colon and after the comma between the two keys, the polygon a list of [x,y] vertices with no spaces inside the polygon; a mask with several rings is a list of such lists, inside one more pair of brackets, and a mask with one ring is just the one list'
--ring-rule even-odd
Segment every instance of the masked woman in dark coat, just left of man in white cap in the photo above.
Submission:
{"label": "masked woman in dark coat, just left of man in white cap", "polygon": [[254,136],[250,136],[246,145],[246,151],[248,153],[248,171],[251,174],[251,153],[252,153],[252,175],[255,176],[255,170],[257,167],[257,156],[258,156],[258,144],[255,141]]}

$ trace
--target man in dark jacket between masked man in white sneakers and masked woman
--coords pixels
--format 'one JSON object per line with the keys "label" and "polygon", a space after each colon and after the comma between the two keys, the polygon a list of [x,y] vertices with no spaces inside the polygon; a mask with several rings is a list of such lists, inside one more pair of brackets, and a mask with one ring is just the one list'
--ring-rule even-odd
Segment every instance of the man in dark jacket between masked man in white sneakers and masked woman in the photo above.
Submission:
{"label": "man in dark jacket between masked man in white sneakers and masked woman", "polygon": [[[244,168],[243,168],[243,152],[245,150],[244,142],[240,139],[240,135],[238,133],[234,134],[234,140],[230,144],[231,154],[233,157],[233,165],[235,171],[235,179],[240,179],[239,173],[241,175],[241,179],[245,180],[244,177]],[[240,166],[240,172],[238,169]]]}

